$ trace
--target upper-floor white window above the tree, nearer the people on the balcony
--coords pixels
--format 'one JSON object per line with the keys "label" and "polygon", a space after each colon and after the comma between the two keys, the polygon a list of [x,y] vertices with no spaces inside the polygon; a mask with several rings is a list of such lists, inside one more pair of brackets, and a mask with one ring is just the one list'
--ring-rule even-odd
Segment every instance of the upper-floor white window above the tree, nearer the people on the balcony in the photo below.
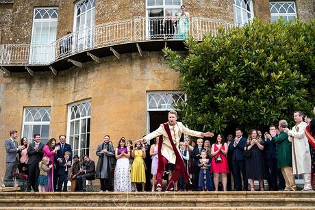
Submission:
{"label": "upper-floor white window above the tree, nearer the people on the balcony", "polygon": [[253,20],[253,1],[251,0],[234,0],[234,22],[244,25]]}

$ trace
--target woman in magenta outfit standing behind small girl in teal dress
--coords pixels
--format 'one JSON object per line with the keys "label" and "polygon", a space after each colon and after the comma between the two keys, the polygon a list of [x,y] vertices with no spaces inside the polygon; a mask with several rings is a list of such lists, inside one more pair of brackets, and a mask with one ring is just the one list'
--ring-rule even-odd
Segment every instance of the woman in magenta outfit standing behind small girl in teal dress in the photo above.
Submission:
{"label": "woman in magenta outfit standing behind small girl in teal dress", "polygon": [[[53,164],[53,159],[57,154],[57,151],[60,149],[59,146],[55,147],[55,144],[55,138],[51,138],[43,148],[44,157],[49,158],[49,165]],[[51,168],[51,170],[48,172],[48,186],[45,189],[46,192],[53,192],[53,168]]]}

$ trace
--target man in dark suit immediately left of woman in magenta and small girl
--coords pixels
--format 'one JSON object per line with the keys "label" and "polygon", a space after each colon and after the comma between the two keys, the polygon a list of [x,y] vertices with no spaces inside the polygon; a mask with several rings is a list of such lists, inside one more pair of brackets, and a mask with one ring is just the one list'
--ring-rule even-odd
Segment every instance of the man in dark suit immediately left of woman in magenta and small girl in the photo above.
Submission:
{"label": "man in dark suit immediately left of woman in magenta and small girl", "polygon": [[33,187],[34,192],[38,192],[38,163],[42,160],[42,155],[44,155],[44,152],[42,151],[43,147],[44,144],[40,142],[40,134],[34,134],[34,142],[29,144],[29,148],[27,148],[27,154],[29,156],[29,161],[27,161],[29,170],[29,178],[27,180],[28,192],[31,191],[31,187]]}

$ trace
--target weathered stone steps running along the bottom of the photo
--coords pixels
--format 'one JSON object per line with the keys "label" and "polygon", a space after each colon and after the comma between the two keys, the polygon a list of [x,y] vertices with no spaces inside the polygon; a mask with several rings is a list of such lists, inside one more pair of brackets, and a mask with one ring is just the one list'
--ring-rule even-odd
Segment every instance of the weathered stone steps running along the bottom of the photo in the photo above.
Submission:
{"label": "weathered stone steps running along the bottom of the photo", "polygon": [[3,192],[0,209],[315,209],[315,192]]}

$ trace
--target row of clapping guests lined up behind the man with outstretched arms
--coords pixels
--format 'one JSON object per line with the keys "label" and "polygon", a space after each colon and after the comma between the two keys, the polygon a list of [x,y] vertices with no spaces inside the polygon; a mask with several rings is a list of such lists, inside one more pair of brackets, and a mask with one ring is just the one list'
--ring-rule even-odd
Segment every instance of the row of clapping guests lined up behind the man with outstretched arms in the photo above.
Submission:
{"label": "row of clapping guests lined up behind the man with outstretched arms", "polygon": [[[195,142],[186,137],[177,150],[190,179],[184,181],[180,175],[174,190],[254,191],[254,181],[258,181],[259,190],[263,191],[266,179],[269,190],[295,191],[295,174],[303,176],[304,191],[312,190],[315,187],[315,119],[304,118],[302,111],[294,111],[294,121],[296,125],[288,129],[288,122],[280,120],[277,127],[270,125],[264,135],[256,129],[248,137],[243,136],[241,129],[236,129],[235,137],[218,134],[212,145],[208,139],[198,138]],[[66,192],[71,181],[72,191],[84,192],[86,182],[95,179],[99,179],[103,192],[155,191],[159,137],[155,137],[151,146],[142,142],[133,145],[131,140],[121,137],[114,147],[110,135],[105,135],[97,146],[95,164],[88,155],[81,157],[81,161],[78,155],[72,157],[66,135],[60,135],[59,142],[51,138],[44,145],[40,135],[35,134],[31,143],[23,137],[18,145],[17,133],[10,131],[10,138],[5,141],[5,179],[16,170],[27,174],[27,191]],[[166,183],[175,168],[172,163],[166,164]]]}

